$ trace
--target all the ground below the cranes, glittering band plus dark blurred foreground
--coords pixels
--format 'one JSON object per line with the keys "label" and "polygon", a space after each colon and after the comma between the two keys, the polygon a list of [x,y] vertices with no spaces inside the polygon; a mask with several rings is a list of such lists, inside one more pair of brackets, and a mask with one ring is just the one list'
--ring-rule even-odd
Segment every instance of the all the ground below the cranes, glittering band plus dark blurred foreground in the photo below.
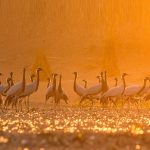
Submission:
{"label": "all the ground below the cranes, glittering band plus dark blurred foreground", "polygon": [[149,109],[0,113],[0,149],[150,149]]}

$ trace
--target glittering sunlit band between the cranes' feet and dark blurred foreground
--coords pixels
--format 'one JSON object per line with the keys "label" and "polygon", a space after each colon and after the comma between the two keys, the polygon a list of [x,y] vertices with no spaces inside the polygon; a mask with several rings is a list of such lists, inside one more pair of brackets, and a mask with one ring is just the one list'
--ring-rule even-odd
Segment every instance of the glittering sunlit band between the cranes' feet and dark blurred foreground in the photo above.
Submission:
{"label": "glittering sunlit band between the cranes' feet and dark blurred foreground", "polygon": [[1,131],[9,133],[150,133],[150,112],[148,110],[101,109],[80,110],[38,110],[16,113],[1,113]]}

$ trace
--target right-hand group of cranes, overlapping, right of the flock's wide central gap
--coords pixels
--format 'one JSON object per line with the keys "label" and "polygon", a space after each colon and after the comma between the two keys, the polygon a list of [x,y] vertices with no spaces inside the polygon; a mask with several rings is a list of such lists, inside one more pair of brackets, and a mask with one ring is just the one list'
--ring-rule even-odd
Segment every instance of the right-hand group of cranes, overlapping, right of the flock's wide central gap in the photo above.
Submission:
{"label": "right-hand group of cranes, overlapping, right of the flock's wide central gap", "polygon": [[118,79],[115,78],[115,84],[113,87],[109,87],[107,83],[107,72],[101,72],[100,76],[97,76],[99,83],[95,86],[87,88],[87,81],[85,86],[82,87],[77,83],[77,72],[74,72],[74,91],[77,95],[81,97],[80,104],[85,99],[98,99],[101,104],[113,103],[115,106],[118,101],[122,101],[122,104],[127,103],[136,103],[138,104],[139,100],[148,100],[150,99],[150,86],[147,85],[147,82],[150,81],[149,77],[144,78],[143,85],[126,85],[126,76],[128,74],[123,73],[121,76],[122,84],[118,85]]}

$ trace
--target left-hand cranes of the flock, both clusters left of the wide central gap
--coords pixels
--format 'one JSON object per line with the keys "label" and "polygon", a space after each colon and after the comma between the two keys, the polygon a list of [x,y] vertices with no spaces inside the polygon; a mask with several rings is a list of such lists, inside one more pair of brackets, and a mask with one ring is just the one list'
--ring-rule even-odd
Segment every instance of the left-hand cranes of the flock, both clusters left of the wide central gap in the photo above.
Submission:
{"label": "left-hand cranes of the flock, both clusters left of the wide central gap", "polygon": [[[22,102],[25,102],[27,109],[29,110],[29,98],[30,95],[38,91],[40,82],[40,72],[42,68],[37,68],[36,75],[31,75],[31,83],[26,83],[26,68],[23,69],[22,81],[15,83],[13,81],[13,73],[10,73],[10,77],[7,78],[7,85],[0,83],[0,105],[2,111],[7,110],[10,106],[15,107],[16,110],[22,110]],[[0,73],[0,76],[2,74]],[[59,76],[59,85],[56,85],[56,76]],[[55,104],[60,104],[60,100],[64,100],[68,104],[68,97],[62,89],[62,76],[53,74],[53,81],[48,78],[48,85],[46,90],[45,104],[49,98],[54,99]],[[4,100],[2,96],[5,97]],[[26,99],[27,97],[27,99]],[[18,107],[17,107],[18,106]]]}

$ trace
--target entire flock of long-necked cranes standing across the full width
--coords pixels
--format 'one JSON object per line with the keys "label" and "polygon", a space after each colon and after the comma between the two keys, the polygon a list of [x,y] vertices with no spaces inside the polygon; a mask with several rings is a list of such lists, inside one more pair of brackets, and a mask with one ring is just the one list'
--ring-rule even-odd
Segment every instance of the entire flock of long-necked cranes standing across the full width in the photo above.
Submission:
{"label": "entire flock of long-necked cranes standing across the full width", "polygon": [[[40,83],[40,72],[42,68],[37,68],[36,75],[30,76],[30,83],[26,83],[26,68],[22,72],[22,80],[18,83],[14,83],[13,73],[7,78],[7,84],[0,82],[0,106],[2,111],[7,110],[9,107],[15,107],[15,109],[22,110],[22,102],[25,102],[25,106],[29,110],[29,98],[30,95],[38,91]],[[114,104],[116,105],[119,100],[124,102],[136,102],[150,98],[150,86],[147,82],[150,81],[149,77],[144,78],[143,85],[126,85],[126,76],[128,74],[123,73],[121,76],[122,84],[118,85],[118,79],[115,78],[115,84],[113,87],[108,86],[107,72],[101,72],[98,79],[98,83],[92,87],[87,87],[88,82],[83,80],[84,86],[80,86],[77,83],[78,73],[74,72],[74,92],[80,97],[80,104],[85,100],[99,100],[101,104]],[[0,73],[2,76],[2,73]],[[58,85],[57,85],[57,79]],[[52,98],[55,105],[60,104],[63,100],[68,104],[68,96],[62,88],[62,75],[52,74],[52,78],[48,78],[48,84],[45,94],[45,105],[46,102]]]}

